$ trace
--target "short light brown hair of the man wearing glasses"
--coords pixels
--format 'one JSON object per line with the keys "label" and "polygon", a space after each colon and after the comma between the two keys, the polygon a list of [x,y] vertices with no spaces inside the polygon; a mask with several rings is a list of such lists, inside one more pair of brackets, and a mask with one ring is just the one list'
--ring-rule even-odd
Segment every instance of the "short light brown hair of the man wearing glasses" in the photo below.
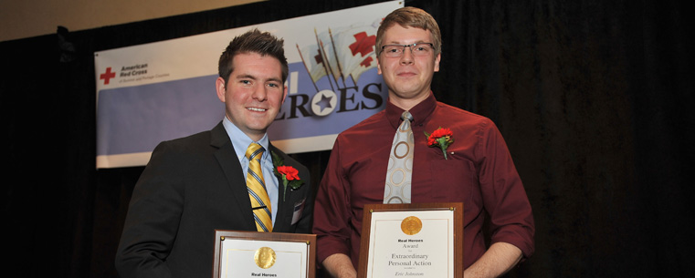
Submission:
{"label": "short light brown hair of the man wearing glasses", "polygon": [[441,53],[442,34],[439,31],[437,21],[434,17],[432,17],[432,15],[427,14],[426,11],[412,6],[404,6],[402,8],[396,9],[395,11],[391,12],[390,14],[386,15],[386,17],[384,17],[384,21],[382,21],[381,26],[379,26],[379,30],[376,31],[377,53],[381,52],[381,47],[384,40],[384,32],[386,31],[386,29],[390,28],[391,26],[394,26],[395,24],[402,27],[415,27],[429,31],[429,33],[432,34],[432,38],[434,39],[432,44],[435,47],[435,57],[437,57],[437,55]]}

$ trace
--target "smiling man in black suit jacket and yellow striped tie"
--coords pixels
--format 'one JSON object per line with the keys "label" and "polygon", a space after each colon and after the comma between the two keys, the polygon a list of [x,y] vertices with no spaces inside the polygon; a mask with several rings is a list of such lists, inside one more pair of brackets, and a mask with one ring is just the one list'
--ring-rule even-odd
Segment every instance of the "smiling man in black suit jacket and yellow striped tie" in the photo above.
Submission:
{"label": "smiling man in black suit jacket and yellow striped tie", "polygon": [[[261,164],[274,213],[272,232],[311,233],[309,170],[270,145],[266,134],[287,97],[282,44],[258,30],[235,37],[220,57],[216,80],[226,117],[210,131],[153,150],[133,190],[116,254],[121,277],[209,278],[215,229],[257,231],[246,184],[248,161],[240,153],[249,142],[270,150]],[[299,170],[299,188],[286,187],[273,175],[280,160]]]}

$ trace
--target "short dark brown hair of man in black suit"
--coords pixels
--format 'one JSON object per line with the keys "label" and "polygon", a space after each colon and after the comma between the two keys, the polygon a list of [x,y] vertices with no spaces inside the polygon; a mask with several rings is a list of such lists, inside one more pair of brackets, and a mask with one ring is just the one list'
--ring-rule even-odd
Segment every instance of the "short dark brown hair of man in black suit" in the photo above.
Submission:
{"label": "short dark brown hair of man in black suit", "polygon": [[234,57],[242,53],[258,53],[261,56],[277,58],[282,67],[282,82],[284,83],[289,72],[285,49],[282,47],[284,43],[285,40],[273,36],[269,32],[261,33],[256,28],[234,37],[219,57],[219,65],[217,66],[219,77],[225,79],[225,87],[229,81],[229,76],[234,71],[232,63]]}

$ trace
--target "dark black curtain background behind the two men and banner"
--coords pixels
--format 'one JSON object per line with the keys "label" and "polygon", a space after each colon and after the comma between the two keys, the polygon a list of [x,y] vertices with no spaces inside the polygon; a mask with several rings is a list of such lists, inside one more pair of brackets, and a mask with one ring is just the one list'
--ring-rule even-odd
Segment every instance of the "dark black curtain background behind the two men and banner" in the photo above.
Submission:
{"label": "dark black curtain background behind the two men and banner", "polygon": [[[269,1],[0,43],[5,273],[116,276],[113,256],[142,168],[95,170],[94,51],[373,2]],[[508,277],[687,275],[695,101],[684,3],[405,5],[425,9],[442,29],[437,98],[491,118],[524,180],[536,252]],[[329,155],[295,157],[318,181]]]}

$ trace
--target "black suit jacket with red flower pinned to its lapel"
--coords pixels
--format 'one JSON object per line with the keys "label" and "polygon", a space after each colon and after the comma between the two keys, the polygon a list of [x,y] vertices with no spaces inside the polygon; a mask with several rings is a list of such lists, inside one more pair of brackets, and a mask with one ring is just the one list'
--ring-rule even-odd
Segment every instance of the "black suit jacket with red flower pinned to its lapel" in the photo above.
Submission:
{"label": "black suit jacket with red flower pinned to its lapel", "polygon": [[[279,181],[273,232],[311,233],[309,170],[272,145],[269,149],[304,181],[297,190],[285,190]],[[300,217],[292,222],[296,207]],[[246,175],[221,122],[154,149],[132,192],[116,269],[121,277],[210,278],[216,229],[256,231]]]}

